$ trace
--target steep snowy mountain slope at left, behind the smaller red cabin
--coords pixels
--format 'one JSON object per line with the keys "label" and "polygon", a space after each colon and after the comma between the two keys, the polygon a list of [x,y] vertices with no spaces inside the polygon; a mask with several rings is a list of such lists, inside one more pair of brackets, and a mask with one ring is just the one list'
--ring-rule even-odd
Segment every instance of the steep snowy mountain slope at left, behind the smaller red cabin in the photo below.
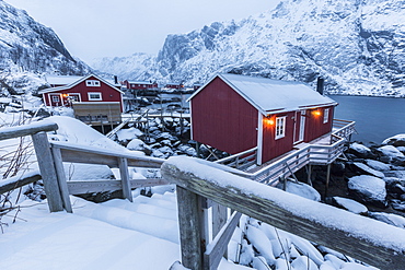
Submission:
{"label": "steep snowy mountain slope at left, behind the smaller red cabin", "polygon": [[33,73],[84,74],[89,68],[72,57],[56,33],[24,10],[0,0],[0,79],[27,83]]}

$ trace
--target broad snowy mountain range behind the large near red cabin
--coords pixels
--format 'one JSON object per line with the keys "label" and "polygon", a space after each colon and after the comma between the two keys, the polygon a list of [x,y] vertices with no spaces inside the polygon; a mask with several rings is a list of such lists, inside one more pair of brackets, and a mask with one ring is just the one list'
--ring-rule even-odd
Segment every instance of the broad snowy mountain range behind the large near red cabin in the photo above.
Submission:
{"label": "broad snowy mountain range behind the large near red cabin", "polygon": [[286,0],[240,22],[169,35],[154,62],[138,62],[130,79],[192,84],[220,71],[314,83],[322,75],[328,93],[405,96],[405,4]]}

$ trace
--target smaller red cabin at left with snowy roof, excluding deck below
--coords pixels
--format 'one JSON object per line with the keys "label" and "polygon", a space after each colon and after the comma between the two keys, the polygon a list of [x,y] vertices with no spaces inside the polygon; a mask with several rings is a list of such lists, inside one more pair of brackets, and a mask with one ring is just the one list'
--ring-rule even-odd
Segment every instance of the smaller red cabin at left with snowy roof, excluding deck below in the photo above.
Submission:
{"label": "smaller red cabin at left with snowy roof, excluding deck below", "polygon": [[111,82],[90,74],[69,84],[45,89],[43,95],[46,106],[72,106],[73,103],[119,103],[123,111],[123,92]]}

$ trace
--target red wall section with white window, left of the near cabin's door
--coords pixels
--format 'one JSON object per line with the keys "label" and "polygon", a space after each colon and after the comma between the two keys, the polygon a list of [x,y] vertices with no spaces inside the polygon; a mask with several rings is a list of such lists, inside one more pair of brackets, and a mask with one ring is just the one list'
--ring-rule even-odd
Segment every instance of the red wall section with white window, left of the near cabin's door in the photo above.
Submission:
{"label": "red wall section with white window, left of the near cabin's door", "polygon": [[[276,117],[286,116],[286,133],[284,138],[276,138]],[[263,120],[263,152],[262,162],[265,163],[290,150],[292,150],[294,138],[294,116],[296,111],[270,115]]]}

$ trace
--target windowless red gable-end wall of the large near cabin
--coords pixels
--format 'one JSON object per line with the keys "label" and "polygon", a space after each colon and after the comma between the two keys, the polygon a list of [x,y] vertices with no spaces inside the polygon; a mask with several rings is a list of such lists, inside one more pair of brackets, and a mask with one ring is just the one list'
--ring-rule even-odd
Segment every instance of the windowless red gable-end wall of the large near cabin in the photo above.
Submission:
{"label": "windowless red gable-end wall of the large near cabin", "polygon": [[230,154],[257,145],[258,113],[221,79],[192,98],[193,139]]}

